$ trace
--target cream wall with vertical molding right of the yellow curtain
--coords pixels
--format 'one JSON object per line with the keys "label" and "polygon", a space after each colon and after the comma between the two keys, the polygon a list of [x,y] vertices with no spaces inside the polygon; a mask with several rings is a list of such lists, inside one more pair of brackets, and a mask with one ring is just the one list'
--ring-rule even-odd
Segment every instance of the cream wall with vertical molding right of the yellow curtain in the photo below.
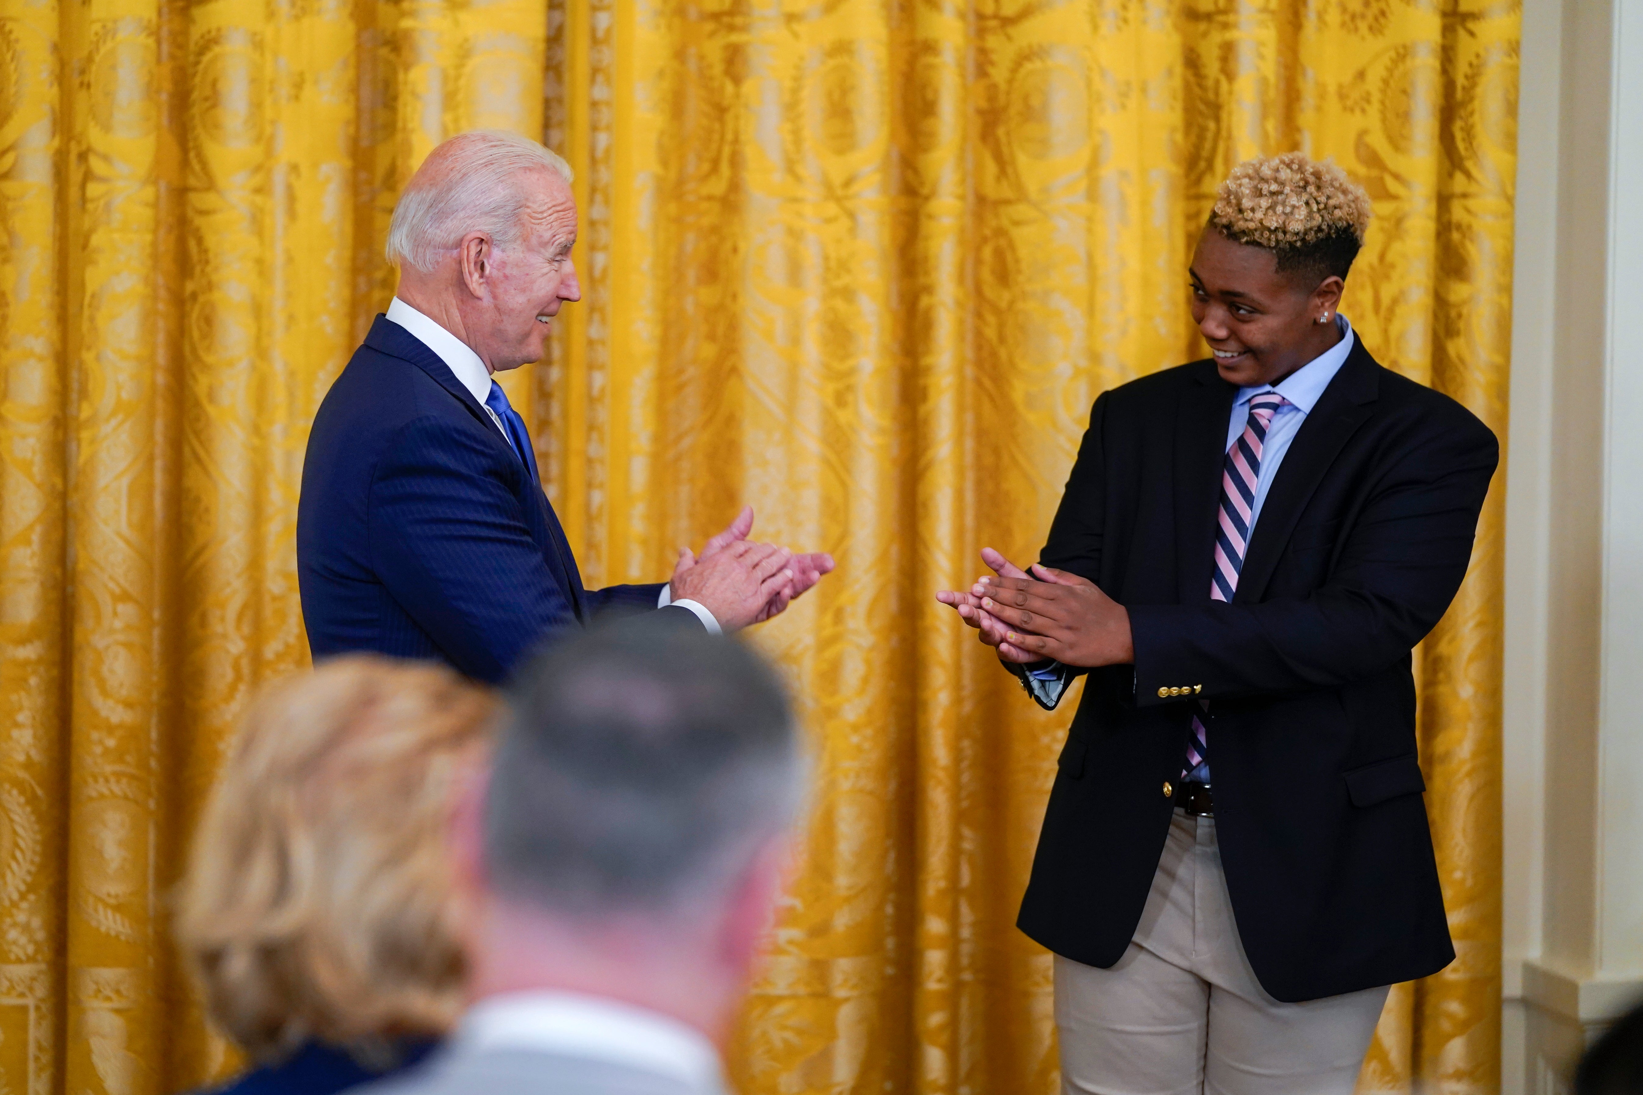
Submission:
{"label": "cream wall with vertical molding right of the yellow curtain", "polygon": [[1520,57],[1502,1090],[1553,1095],[1643,1000],[1643,0],[1525,0]]}

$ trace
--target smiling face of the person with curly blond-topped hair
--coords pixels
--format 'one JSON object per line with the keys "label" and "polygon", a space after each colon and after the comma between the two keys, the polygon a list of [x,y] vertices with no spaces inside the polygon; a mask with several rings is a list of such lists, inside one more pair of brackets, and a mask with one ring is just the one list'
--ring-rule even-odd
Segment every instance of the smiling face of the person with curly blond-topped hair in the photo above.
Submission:
{"label": "smiling face of the person with curly blond-topped hair", "polygon": [[1193,322],[1231,384],[1277,384],[1341,340],[1334,310],[1344,282],[1336,276],[1306,284],[1298,273],[1278,273],[1273,251],[1234,243],[1214,227],[1198,238],[1190,274]]}

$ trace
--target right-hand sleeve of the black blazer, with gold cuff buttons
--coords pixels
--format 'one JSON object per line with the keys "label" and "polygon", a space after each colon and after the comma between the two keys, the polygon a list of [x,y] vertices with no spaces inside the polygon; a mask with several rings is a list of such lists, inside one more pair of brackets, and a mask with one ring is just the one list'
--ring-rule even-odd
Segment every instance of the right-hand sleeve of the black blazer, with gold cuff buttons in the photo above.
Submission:
{"label": "right-hand sleeve of the black blazer, with gold cuff buttons", "polygon": [[1168,686],[1203,685],[1206,699],[1334,688],[1406,657],[1466,578],[1498,461],[1475,419],[1444,425],[1382,476],[1309,596],[1130,607],[1137,704],[1168,703]]}

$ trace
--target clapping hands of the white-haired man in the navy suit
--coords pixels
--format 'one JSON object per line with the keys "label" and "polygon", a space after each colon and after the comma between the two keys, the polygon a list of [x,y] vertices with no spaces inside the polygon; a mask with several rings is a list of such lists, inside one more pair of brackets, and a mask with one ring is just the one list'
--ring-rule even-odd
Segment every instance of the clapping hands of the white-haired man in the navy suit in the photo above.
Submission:
{"label": "clapping hands of the white-haired man in the navy suit", "polygon": [[833,570],[833,557],[825,552],[795,553],[774,543],[749,540],[749,532],[752,506],[708,540],[702,555],[687,547],[679,548],[669,598],[695,601],[713,612],[720,627],[739,630],[780,616],[794,598]]}

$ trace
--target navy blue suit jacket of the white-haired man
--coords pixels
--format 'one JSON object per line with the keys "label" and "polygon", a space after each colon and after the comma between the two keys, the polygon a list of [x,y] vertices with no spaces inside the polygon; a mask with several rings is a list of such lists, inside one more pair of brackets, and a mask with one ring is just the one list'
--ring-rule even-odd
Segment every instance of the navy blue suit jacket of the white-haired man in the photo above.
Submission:
{"label": "navy blue suit jacket of the white-haired man", "polygon": [[554,632],[654,609],[659,583],[582,588],[532,471],[439,355],[378,315],[325,394],[302,466],[297,580],[314,658],[440,658],[499,683]]}

